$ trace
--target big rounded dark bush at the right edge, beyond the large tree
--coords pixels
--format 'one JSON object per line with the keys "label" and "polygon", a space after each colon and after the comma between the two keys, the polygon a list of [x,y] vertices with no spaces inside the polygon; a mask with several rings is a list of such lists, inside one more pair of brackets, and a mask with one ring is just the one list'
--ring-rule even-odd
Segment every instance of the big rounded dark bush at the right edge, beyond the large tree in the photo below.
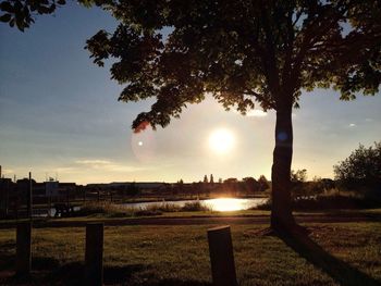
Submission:
{"label": "big rounded dark bush at the right edge, beyond the large tree", "polygon": [[346,189],[374,190],[381,185],[381,141],[369,148],[359,145],[348,158],[333,166],[335,179]]}

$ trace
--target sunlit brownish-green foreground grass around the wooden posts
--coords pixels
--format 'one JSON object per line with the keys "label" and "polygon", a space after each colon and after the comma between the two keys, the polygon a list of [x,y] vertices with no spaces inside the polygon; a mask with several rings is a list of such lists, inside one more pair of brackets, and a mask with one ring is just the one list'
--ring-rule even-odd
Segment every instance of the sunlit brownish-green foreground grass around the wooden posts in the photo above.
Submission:
{"label": "sunlit brownish-green foreground grass around the wooden posts", "polygon": [[[339,285],[337,281],[355,285],[356,279],[381,284],[381,223],[307,226],[310,238],[351,275],[344,272],[347,277],[337,277],[340,273],[328,275],[320,270],[321,263],[314,265],[282,239],[258,235],[266,225],[232,225],[239,285]],[[105,284],[210,285],[209,227],[105,227]],[[34,229],[34,271],[28,283],[82,284],[84,243],[84,227]],[[12,277],[14,254],[15,231],[1,229],[0,285],[22,283]]]}

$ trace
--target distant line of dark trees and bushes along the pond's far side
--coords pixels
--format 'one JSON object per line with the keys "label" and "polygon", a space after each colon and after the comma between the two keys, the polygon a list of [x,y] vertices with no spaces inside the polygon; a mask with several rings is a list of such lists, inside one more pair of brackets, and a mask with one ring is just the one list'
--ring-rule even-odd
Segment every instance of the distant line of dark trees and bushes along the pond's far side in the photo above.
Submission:
{"label": "distant line of dark trees and bushes along the pond's far side", "polygon": [[[381,141],[366,148],[364,145],[354,150],[348,158],[333,166],[334,179],[312,177],[308,181],[307,170],[292,170],[291,187],[293,200],[322,194],[355,191],[358,195],[380,194],[381,187]],[[147,190],[131,183],[120,186],[125,196],[140,196]],[[204,175],[199,182],[184,183],[181,178],[174,184],[164,183],[159,189],[161,195],[208,197],[208,196],[253,196],[271,189],[271,182],[265,175],[258,177],[235,177],[214,179],[212,174]],[[148,190],[149,192],[149,190]],[[151,190],[151,192],[155,192]],[[268,191],[270,192],[270,191]]]}

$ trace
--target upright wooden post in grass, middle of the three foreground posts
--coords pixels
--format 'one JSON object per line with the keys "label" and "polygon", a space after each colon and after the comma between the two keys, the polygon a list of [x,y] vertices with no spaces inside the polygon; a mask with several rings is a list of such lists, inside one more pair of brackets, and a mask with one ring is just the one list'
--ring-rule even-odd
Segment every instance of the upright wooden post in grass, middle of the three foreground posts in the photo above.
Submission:
{"label": "upright wooden post in grass, middle of the three foreground posts", "polygon": [[103,224],[86,225],[85,285],[103,284]]}

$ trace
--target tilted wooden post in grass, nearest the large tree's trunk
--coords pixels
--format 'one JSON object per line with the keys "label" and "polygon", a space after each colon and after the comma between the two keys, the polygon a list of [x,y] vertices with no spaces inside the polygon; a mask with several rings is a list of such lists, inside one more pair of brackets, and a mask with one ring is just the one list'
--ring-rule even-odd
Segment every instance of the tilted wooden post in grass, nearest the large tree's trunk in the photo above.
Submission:
{"label": "tilted wooden post in grass, nearest the large tree's trunk", "polygon": [[236,286],[230,226],[208,229],[211,274],[214,286]]}

